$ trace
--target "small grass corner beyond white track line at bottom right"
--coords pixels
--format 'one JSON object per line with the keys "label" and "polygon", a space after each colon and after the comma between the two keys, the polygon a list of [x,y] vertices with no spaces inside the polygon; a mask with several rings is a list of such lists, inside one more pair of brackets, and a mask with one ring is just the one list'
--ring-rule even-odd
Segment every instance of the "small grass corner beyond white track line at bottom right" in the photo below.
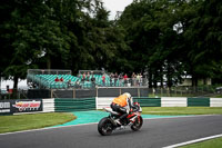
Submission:
{"label": "small grass corner beyond white track line at bottom right", "polygon": [[221,147],[222,147],[222,138],[215,138],[212,140],[196,142],[180,148],[221,148]]}

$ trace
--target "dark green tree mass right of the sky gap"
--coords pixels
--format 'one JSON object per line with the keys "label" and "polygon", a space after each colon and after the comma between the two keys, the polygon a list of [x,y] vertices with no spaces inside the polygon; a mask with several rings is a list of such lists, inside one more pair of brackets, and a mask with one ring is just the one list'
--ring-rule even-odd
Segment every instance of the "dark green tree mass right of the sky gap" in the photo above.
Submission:
{"label": "dark green tree mass right of the sky gap", "polygon": [[221,78],[221,6],[216,0],[133,1],[119,23],[134,70],[148,70],[150,87],[164,81],[171,87],[184,75],[194,86],[198,78]]}

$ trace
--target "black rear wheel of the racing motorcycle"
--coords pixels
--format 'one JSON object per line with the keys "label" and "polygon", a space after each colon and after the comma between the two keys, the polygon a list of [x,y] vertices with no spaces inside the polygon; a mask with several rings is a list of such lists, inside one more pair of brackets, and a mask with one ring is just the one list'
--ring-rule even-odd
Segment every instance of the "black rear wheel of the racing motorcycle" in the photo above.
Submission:
{"label": "black rear wheel of the racing motorcycle", "polygon": [[113,124],[111,119],[108,117],[102,118],[100,122],[98,124],[98,131],[102,136],[111,135],[112,130],[113,130]]}

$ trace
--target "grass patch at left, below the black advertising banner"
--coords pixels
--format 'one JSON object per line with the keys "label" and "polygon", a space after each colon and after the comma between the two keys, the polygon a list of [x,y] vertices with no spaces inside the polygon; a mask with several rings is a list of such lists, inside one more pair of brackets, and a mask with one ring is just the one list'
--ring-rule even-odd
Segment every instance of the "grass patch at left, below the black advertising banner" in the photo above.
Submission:
{"label": "grass patch at left, below the black advertising banner", "polygon": [[0,134],[61,125],[75,118],[64,112],[0,116]]}

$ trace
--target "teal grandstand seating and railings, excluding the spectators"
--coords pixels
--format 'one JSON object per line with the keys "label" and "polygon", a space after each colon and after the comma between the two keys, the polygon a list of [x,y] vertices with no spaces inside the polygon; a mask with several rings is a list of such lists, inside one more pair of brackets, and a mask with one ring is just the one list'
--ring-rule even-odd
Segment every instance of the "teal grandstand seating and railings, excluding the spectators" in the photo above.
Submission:
{"label": "teal grandstand seating and railings, excluding the spectators", "polygon": [[[83,80],[83,73],[90,72],[89,80]],[[105,82],[102,82],[102,75],[105,75]],[[91,78],[94,77],[94,83]],[[56,81],[56,78],[63,78],[63,81]],[[79,76],[72,76],[71,70],[46,70],[46,69],[29,69],[28,86],[30,88],[47,88],[47,89],[68,89],[68,88],[93,88],[98,87],[123,87],[124,83],[120,79],[111,79],[102,70],[80,70]]]}

